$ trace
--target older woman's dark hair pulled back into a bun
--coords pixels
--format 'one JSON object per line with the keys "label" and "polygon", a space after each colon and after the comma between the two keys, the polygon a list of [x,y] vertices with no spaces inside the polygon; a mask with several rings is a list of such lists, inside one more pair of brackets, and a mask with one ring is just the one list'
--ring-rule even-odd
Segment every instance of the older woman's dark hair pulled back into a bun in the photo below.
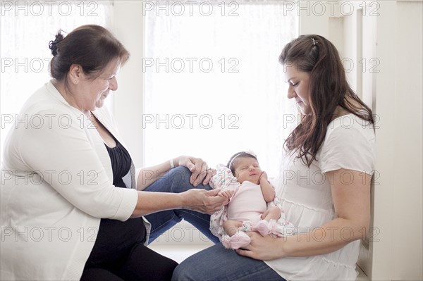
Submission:
{"label": "older woman's dark hair pulled back into a bun", "polygon": [[54,41],[49,42],[51,49],[50,73],[56,80],[64,80],[68,85],[67,74],[71,65],[81,65],[87,75],[97,77],[99,73],[116,58],[121,63],[128,61],[129,53],[114,35],[99,25],[82,25],[63,37],[61,30]]}

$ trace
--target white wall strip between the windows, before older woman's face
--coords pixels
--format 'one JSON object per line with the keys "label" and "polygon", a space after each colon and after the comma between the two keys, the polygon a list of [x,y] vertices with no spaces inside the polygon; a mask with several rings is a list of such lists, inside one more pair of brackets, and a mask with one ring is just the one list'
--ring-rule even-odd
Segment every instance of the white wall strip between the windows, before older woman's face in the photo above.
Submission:
{"label": "white wall strip between the windows, before older woman's face", "polygon": [[135,167],[144,166],[142,131],[142,97],[144,82],[144,18],[142,1],[114,1],[114,34],[130,52],[128,63],[118,75],[118,90],[114,94],[114,115],[119,131],[130,150]]}

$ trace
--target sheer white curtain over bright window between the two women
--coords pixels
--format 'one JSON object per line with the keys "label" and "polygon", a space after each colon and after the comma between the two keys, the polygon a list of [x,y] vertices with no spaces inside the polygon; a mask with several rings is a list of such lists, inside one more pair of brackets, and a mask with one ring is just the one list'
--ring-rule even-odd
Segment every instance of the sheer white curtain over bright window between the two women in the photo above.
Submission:
{"label": "sheer white curtain over bright window between the two women", "polygon": [[146,166],[180,154],[215,166],[252,149],[276,176],[296,114],[278,56],[298,36],[296,11],[283,1],[193,2],[143,11]]}

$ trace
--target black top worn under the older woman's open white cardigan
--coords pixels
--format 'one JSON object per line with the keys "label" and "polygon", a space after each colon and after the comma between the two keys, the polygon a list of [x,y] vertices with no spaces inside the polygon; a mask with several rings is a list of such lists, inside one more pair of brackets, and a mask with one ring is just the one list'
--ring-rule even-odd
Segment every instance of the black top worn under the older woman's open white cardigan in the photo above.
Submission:
{"label": "black top worn under the older woman's open white cardigan", "polygon": [[[122,177],[130,173],[132,161],[128,151],[117,140],[115,147],[106,146],[106,149],[111,160],[114,186],[127,188]],[[124,222],[102,218],[85,267],[119,266],[134,244],[145,242],[146,234],[142,218],[130,218]]]}

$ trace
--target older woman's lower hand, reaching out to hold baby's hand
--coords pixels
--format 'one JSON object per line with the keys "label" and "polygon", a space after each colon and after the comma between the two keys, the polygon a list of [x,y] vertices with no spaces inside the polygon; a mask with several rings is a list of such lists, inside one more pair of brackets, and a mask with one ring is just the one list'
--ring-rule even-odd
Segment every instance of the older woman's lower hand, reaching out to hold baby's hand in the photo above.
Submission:
{"label": "older woman's lower hand, reaching out to hold baby's hand", "polygon": [[211,215],[228,204],[228,198],[217,196],[219,191],[219,189],[190,189],[182,192],[180,195],[183,196],[183,208]]}

